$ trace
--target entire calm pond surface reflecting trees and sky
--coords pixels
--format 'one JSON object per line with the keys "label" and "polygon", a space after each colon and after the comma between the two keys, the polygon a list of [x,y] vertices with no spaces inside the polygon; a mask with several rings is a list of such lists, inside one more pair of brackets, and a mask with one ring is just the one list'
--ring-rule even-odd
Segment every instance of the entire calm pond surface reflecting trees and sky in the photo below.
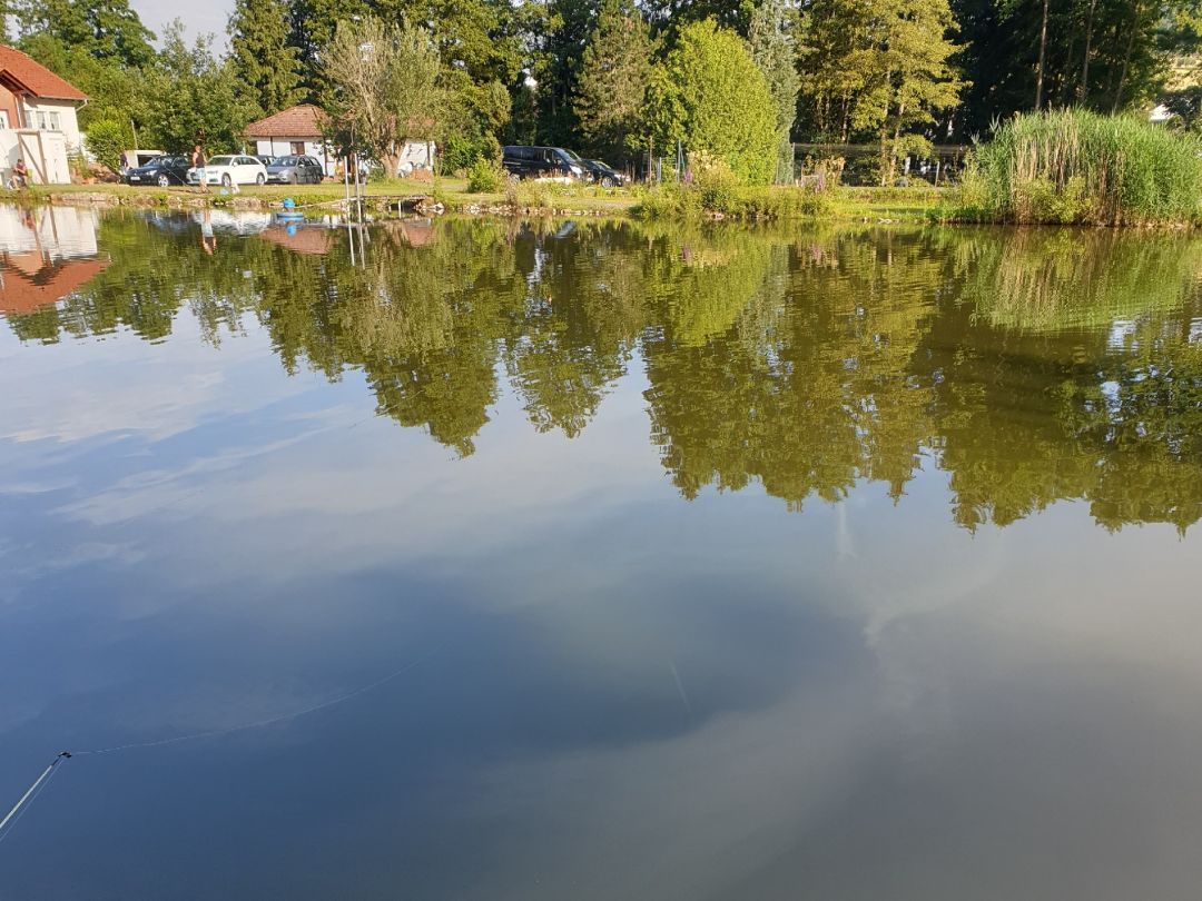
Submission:
{"label": "entire calm pond surface reflecting trees and sky", "polygon": [[5,901],[1197,899],[1202,239],[0,249]]}

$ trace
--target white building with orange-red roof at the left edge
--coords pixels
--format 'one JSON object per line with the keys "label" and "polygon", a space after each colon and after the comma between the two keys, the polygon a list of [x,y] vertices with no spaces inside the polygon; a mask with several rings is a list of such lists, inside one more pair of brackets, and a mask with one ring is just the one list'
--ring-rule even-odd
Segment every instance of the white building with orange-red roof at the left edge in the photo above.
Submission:
{"label": "white building with orange-red roof at the left edge", "polygon": [[17,160],[35,184],[67,184],[67,159],[81,153],[76,111],[88,95],[20,50],[0,44],[0,178]]}

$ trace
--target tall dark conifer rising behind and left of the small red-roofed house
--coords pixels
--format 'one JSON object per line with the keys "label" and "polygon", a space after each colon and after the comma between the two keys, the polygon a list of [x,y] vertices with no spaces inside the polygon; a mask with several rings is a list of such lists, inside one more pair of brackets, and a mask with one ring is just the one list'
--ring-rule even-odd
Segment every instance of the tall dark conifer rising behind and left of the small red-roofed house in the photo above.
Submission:
{"label": "tall dark conifer rising behind and left of the small red-roofed house", "polygon": [[263,114],[297,103],[300,54],[288,40],[282,0],[237,0],[230,16],[230,64],[246,97]]}

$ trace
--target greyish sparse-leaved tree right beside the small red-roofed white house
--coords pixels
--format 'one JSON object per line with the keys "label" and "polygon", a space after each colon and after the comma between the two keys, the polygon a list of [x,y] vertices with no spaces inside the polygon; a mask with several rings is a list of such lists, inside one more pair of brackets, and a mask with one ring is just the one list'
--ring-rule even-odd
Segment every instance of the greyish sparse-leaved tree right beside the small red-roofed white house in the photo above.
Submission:
{"label": "greyish sparse-leaved tree right beside the small red-roofed white house", "polygon": [[327,111],[352,126],[389,175],[405,141],[433,137],[441,119],[439,53],[424,28],[376,18],[340,22],[322,54]]}

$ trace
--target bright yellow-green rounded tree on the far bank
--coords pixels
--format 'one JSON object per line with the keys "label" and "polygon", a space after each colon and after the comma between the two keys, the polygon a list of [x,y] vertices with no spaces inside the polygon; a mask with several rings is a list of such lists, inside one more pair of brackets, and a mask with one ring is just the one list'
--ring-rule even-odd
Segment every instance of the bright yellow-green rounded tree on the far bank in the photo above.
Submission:
{"label": "bright yellow-green rounded tree on the far bank", "polygon": [[724,160],[749,184],[776,169],[776,107],[746,44],[712,20],[680,30],[651,73],[647,118],[660,148],[683,141]]}

